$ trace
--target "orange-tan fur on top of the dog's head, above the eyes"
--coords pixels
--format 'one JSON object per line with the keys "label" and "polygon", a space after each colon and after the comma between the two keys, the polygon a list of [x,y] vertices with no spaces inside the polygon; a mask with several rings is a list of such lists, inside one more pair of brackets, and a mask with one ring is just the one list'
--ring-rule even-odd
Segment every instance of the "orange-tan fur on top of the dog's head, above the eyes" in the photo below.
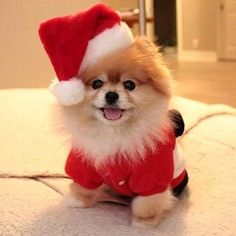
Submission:
{"label": "orange-tan fur on top of the dog's head, above the eyes", "polygon": [[163,63],[158,48],[147,38],[139,37],[128,49],[106,56],[85,70],[80,77],[85,84],[100,74],[107,73],[110,81],[123,76],[134,78],[140,84],[152,85],[158,92],[170,96],[170,74]]}

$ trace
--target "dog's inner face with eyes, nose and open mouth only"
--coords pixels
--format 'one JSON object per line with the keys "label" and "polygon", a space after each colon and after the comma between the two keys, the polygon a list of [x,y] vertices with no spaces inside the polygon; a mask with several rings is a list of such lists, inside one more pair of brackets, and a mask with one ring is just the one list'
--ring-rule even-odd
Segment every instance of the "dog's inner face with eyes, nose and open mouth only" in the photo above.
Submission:
{"label": "dog's inner face with eyes, nose and open mouth only", "polygon": [[135,112],[134,93],[139,85],[136,79],[126,78],[116,71],[93,77],[88,97],[95,117],[106,125],[126,122]]}

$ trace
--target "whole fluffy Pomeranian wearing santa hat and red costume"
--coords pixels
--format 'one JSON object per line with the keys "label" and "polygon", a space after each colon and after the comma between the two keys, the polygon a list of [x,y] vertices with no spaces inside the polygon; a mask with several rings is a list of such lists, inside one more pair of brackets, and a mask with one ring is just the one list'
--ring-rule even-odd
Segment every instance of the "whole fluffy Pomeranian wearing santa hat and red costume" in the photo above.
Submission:
{"label": "whole fluffy Pomeranian wearing santa hat and red costume", "polygon": [[175,137],[183,122],[168,112],[170,74],[158,49],[100,3],[43,22],[39,36],[72,136],[67,200],[91,207],[113,191],[131,198],[133,225],[157,225],[188,181]]}

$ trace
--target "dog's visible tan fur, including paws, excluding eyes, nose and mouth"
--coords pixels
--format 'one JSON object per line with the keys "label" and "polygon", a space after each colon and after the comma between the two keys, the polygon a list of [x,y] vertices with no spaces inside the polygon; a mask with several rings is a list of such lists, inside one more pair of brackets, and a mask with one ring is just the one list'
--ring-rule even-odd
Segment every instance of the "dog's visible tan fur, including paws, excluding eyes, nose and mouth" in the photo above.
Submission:
{"label": "dog's visible tan fur, including paws, excluding eyes, nose and mouth", "polygon": [[[72,135],[73,146],[82,149],[95,165],[114,161],[117,152],[136,162],[145,156],[146,147],[155,149],[153,140],[164,142],[162,129],[170,126],[167,116],[171,97],[170,74],[163,64],[158,49],[146,38],[137,38],[125,50],[106,56],[96,65],[78,75],[86,85],[82,103],[63,108],[67,129]],[[94,90],[93,80],[101,79],[104,85]],[[133,80],[136,88],[127,91],[123,82]],[[99,109],[104,106],[108,91],[119,94],[119,108],[125,110],[117,121],[109,121]],[[89,207],[101,200],[100,189],[86,190],[72,185],[73,195],[82,207]],[[133,222],[156,225],[166,209],[172,205],[170,190],[148,197],[134,199]]]}

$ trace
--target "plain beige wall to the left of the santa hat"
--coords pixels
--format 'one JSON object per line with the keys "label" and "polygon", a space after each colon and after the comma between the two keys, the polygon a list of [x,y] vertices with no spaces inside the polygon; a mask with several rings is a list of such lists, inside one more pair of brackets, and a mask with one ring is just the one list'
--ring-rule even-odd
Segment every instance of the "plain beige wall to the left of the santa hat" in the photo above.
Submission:
{"label": "plain beige wall to the left of the santa hat", "polygon": [[71,14],[96,2],[1,0],[0,88],[47,87],[55,73],[39,41],[39,23]]}

